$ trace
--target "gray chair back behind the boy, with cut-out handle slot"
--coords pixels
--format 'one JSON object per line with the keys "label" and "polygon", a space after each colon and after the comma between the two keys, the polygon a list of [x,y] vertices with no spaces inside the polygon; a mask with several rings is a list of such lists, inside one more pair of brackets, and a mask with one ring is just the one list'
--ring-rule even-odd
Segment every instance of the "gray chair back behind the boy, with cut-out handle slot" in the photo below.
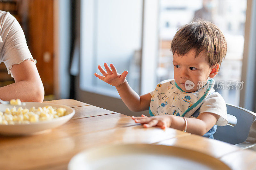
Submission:
{"label": "gray chair back behind the boy, with cut-out handle slot", "polygon": [[255,148],[256,113],[242,107],[226,104],[228,125],[218,126],[214,139],[237,145],[241,148]]}

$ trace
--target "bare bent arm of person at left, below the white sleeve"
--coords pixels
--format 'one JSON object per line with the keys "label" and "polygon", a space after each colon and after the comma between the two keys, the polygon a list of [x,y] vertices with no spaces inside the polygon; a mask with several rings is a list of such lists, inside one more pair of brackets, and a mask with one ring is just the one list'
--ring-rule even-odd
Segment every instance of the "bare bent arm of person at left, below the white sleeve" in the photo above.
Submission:
{"label": "bare bent arm of person at left, below the white sleeve", "polygon": [[25,60],[14,64],[11,72],[15,83],[0,88],[2,100],[19,98],[22,102],[43,101],[44,87],[33,61]]}

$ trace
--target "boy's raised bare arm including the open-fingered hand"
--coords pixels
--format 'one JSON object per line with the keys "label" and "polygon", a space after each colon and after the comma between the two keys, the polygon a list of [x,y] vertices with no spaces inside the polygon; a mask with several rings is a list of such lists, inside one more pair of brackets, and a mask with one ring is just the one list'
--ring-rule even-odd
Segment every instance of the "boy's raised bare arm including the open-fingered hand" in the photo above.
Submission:
{"label": "boy's raised bare arm including the open-fingered hand", "polygon": [[107,63],[104,63],[105,69],[98,66],[102,75],[95,73],[95,76],[106,83],[115,86],[124,104],[133,112],[139,112],[148,110],[151,100],[151,94],[145,94],[139,96],[132,88],[129,86],[125,77],[128,74],[124,71],[122,74],[117,73],[116,68],[113,64],[110,64],[111,69],[108,67]]}

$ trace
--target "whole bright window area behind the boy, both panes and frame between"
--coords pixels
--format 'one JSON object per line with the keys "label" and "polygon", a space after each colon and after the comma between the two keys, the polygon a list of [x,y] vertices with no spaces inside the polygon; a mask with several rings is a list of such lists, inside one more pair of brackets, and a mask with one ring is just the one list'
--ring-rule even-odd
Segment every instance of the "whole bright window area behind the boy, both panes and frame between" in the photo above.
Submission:
{"label": "whole bright window area behind the boy, both panes and frame between", "polygon": [[[228,43],[226,58],[214,78],[215,90],[227,103],[239,105],[240,89],[236,89],[236,82],[241,82],[246,3],[246,0],[81,1],[81,89],[119,97],[114,87],[94,77],[94,73],[100,73],[97,66],[105,62],[113,63],[119,73],[128,70],[127,81],[140,95],[153,90],[158,82],[172,79],[172,38],[180,26],[202,18],[220,27]],[[218,86],[222,81],[224,89]]]}

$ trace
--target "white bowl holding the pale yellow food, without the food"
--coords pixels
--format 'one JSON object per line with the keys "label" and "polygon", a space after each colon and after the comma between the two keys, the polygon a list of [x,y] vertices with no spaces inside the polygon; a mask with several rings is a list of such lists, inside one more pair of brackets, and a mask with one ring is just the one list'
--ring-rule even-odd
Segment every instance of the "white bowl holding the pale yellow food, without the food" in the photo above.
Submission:
{"label": "white bowl holding the pale yellow food, without the food", "polygon": [[[67,109],[66,115],[61,116],[59,118],[54,118],[52,120],[38,121],[30,124],[0,125],[0,134],[2,135],[34,135],[38,133],[43,133],[48,129],[56,128],[60,125],[63,125],[68,120],[70,120],[75,114],[75,110],[73,108],[65,105],[61,105],[61,104],[26,102],[25,106],[16,106],[16,108],[18,109],[19,107],[22,107],[22,108],[30,109],[33,106],[38,108],[38,107],[44,107],[47,105],[50,105],[52,107],[57,107],[57,108],[62,107]],[[5,112],[6,108],[9,108],[11,110],[13,107],[14,107],[13,105],[0,104],[0,111]]]}

